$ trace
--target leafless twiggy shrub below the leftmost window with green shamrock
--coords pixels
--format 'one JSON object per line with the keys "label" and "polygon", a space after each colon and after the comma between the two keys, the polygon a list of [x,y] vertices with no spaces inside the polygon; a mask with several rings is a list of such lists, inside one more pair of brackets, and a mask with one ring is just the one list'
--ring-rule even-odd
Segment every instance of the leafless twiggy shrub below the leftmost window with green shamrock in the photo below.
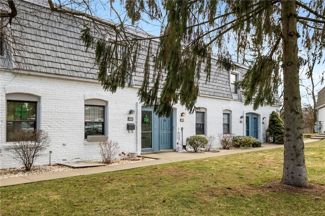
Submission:
{"label": "leafless twiggy shrub below the leftmost window with green shamrock", "polygon": [[16,130],[12,134],[14,144],[11,148],[13,158],[29,171],[35,160],[43,155],[43,152],[50,146],[50,137],[44,130]]}

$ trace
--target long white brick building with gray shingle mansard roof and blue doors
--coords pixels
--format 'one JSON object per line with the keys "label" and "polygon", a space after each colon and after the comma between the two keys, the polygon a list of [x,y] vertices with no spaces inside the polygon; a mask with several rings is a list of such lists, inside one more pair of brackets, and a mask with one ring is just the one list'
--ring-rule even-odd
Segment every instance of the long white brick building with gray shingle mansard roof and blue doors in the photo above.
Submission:
{"label": "long white brick building with gray shingle mansard roof and blue doors", "polygon": [[[235,71],[215,66],[210,82],[200,85],[196,106],[201,109],[196,113],[176,104],[171,117],[158,118],[137,96],[143,59],[132,87],[106,92],[96,80],[93,53],[85,52],[79,39],[80,19],[51,13],[46,3],[29,2],[15,1],[18,14],[7,26],[18,43],[8,46],[2,41],[0,169],[21,166],[9,151],[10,133],[20,128],[49,133],[51,146],[35,165],[99,161],[99,142],[92,141],[98,137],[117,141],[120,152],[139,155],[177,149],[177,143],[185,145],[186,137],[195,134],[233,133],[266,141],[269,115],[279,105],[256,111],[244,105],[240,91],[231,84],[242,78],[244,65]],[[134,130],[128,130],[127,124],[134,124]],[[214,147],[221,147],[218,140]]]}

